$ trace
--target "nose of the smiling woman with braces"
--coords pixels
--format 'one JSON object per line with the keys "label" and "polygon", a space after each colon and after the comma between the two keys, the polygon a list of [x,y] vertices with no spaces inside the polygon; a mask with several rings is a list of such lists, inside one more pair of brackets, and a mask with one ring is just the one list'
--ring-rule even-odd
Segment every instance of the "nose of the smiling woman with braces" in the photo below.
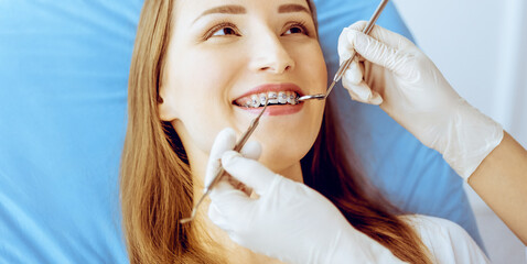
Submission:
{"label": "nose of the smiling woman with braces", "polygon": [[294,68],[294,59],[275,32],[259,34],[252,47],[250,69],[257,73],[283,74]]}

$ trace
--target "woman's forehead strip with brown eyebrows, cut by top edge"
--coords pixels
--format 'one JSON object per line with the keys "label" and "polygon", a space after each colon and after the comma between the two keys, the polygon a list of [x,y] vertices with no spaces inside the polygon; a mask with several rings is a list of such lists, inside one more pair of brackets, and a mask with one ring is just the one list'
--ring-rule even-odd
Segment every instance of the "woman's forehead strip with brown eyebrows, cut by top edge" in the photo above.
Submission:
{"label": "woman's forehead strip with brown eyebrows, cut by top edge", "polygon": [[176,16],[197,19],[206,13],[251,13],[291,11],[303,7],[309,10],[308,0],[178,0]]}

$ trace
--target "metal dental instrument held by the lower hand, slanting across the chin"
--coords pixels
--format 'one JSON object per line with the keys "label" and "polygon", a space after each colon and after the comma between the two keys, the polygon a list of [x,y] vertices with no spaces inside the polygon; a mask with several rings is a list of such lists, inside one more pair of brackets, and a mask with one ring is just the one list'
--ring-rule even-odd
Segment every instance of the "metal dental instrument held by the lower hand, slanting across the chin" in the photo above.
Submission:
{"label": "metal dental instrument held by the lower hand, slanting across the chin", "polygon": [[[250,123],[250,125],[249,125],[249,128],[247,129],[247,131],[241,135],[241,138],[239,139],[239,141],[236,143],[236,145],[235,145],[235,147],[234,147],[234,151],[235,151],[235,152],[241,151],[241,147],[244,147],[244,145],[245,145],[245,143],[247,142],[247,140],[249,139],[249,136],[252,134],[252,132],[255,132],[256,128],[258,127],[258,123],[260,122],[261,116],[264,114],[264,112],[265,112],[266,109],[267,109],[268,102],[269,102],[269,99],[266,99],[266,105],[264,106],[264,109],[261,110],[261,112],[258,114],[258,117],[256,117],[256,118],[252,120],[252,122]],[[192,215],[191,215],[191,217],[190,217],[190,218],[180,219],[180,223],[187,223],[187,222],[194,220],[194,218],[196,217],[197,208],[198,208],[200,205],[203,202],[203,200],[205,199],[205,197],[211,194],[211,190],[216,186],[216,184],[219,183],[219,180],[225,176],[225,174],[226,174],[225,169],[224,169],[222,166],[219,166],[218,172],[217,172],[216,175],[214,176],[214,178],[213,178],[213,180],[211,182],[211,184],[205,187],[205,194],[203,194],[202,198],[200,198],[200,200],[198,200],[197,204],[194,206],[194,208],[192,208]]]}

